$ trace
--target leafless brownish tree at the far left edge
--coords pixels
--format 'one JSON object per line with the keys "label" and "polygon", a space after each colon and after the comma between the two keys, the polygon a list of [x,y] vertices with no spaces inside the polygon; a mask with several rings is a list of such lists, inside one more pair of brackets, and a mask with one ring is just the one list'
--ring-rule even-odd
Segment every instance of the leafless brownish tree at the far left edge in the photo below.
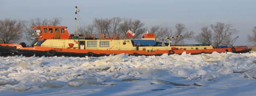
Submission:
{"label": "leafless brownish tree at the far left edge", "polygon": [[24,28],[23,21],[10,19],[0,20],[0,37],[6,43],[18,43],[17,41],[22,39]]}

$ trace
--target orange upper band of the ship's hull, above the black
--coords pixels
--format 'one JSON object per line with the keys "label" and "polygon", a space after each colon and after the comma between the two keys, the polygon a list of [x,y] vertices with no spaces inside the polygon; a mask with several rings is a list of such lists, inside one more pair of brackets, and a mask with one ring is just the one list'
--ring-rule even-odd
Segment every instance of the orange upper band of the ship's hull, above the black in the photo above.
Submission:
{"label": "orange upper band of the ship's hull, above the black", "polygon": [[[54,47],[42,47],[42,46],[34,46],[34,47],[22,47],[21,45],[16,45],[16,44],[0,44],[1,46],[16,46],[17,49],[21,50],[31,50],[31,51],[49,51],[49,50],[55,50],[56,52],[68,52],[68,53],[88,53],[92,52],[94,54],[144,54],[144,55],[155,55],[155,54],[165,54],[168,53],[170,54],[170,50],[155,50],[154,52],[147,52],[147,51],[136,51],[136,50],[83,50],[83,49],[62,49],[62,48],[54,48]],[[234,47],[237,52],[239,51],[246,51],[248,49],[247,46],[238,46]],[[173,50],[174,54],[181,54],[183,52],[186,53],[212,53],[212,52],[234,52],[234,49],[232,47],[228,48],[220,48],[220,49],[199,49],[199,50]]]}

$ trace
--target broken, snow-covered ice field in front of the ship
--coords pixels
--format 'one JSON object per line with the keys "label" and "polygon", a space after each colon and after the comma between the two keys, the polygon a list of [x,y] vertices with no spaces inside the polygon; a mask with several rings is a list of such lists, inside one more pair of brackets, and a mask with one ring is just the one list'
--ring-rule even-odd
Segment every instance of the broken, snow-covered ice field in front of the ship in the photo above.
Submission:
{"label": "broken, snow-covered ice field in front of the ship", "polygon": [[1,95],[246,96],[256,52],[161,56],[0,57]]}

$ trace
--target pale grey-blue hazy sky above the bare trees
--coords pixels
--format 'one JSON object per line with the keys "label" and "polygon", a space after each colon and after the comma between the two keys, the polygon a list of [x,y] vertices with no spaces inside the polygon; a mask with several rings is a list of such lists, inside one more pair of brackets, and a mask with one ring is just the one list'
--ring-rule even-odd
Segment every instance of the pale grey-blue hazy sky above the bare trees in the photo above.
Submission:
{"label": "pale grey-blue hazy sky above the bare trees", "polygon": [[73,33],[75,5],[86,25],[95,17],[122,17],[140,19],[148,28],[183,23],[197,35],[202,26],[229,23],[239,31],[235,45],[248,45],[247,35],[256,26],[256,0],[0,0],[0,19],[61,17],[62,25]]}

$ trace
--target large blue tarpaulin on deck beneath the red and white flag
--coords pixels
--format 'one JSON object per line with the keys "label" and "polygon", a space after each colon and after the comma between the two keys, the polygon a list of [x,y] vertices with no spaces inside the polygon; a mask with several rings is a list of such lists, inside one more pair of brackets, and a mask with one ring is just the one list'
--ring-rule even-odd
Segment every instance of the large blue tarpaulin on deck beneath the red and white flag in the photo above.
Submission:
{"label": "large blue tarpaulin on deck beneath the red and white flag", "polygon": [[132,44],[134,45],[139,45],[140,46],[155,46],[157,44],[157,42],[155,42],[155,40],[131,40]]}

